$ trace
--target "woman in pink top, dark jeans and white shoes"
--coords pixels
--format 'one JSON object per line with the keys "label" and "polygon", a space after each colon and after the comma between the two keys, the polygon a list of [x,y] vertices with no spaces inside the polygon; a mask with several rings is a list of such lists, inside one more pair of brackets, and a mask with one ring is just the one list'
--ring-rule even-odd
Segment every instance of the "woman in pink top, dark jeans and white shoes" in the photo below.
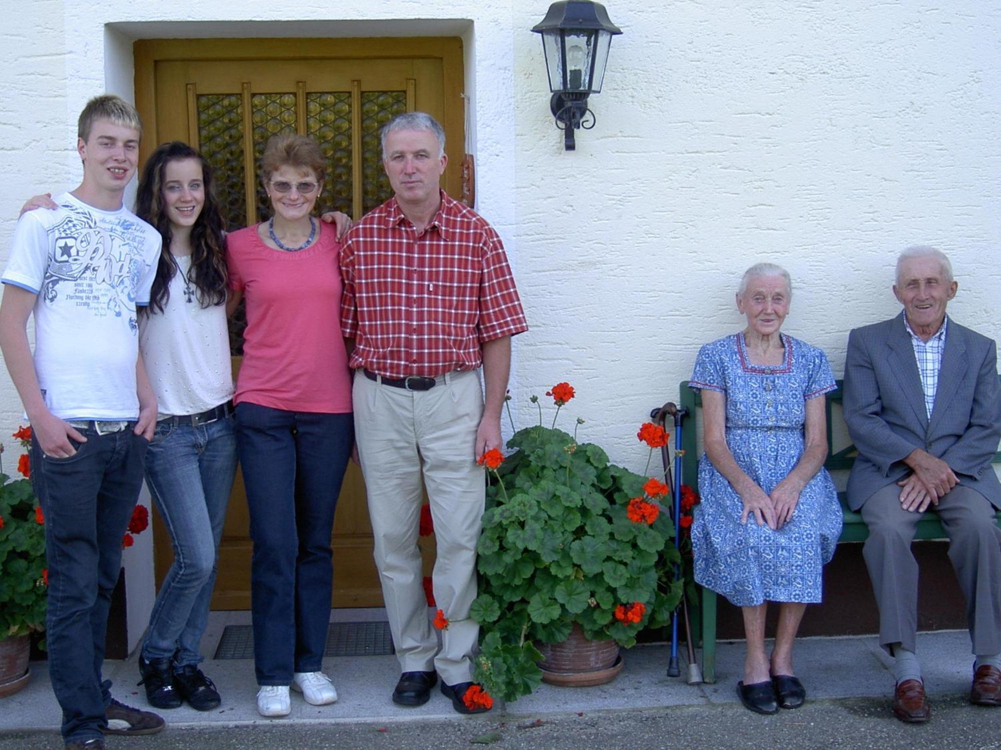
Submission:
{"label": "woman in pink top, dark jeans and white shoes", "polygon": [[236,381],[237,447],[250,511],[257,710],[337,699],[322,672],[330,612],[330,534],[353,444],[340,336],[340,245],[312,216],[325,159],[310,138],[275,136],[261,158],[272,217],[227,237],[230,309],[246,299]]}

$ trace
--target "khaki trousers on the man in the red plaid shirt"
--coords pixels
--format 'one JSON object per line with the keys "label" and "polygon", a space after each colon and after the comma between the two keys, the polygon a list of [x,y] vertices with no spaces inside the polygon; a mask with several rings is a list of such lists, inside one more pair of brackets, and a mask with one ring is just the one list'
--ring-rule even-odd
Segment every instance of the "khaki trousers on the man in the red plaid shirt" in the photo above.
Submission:
{"label": "khaki trousers on the man in the red plaid shirt", "polygon": [[[469,604],[476,597],[476,542],[486,493],[473,455],[483,413],[478,373],[448,373],[428,391],[407,391],[358,370],[352,396],[375,565],[400,670],[436,670],[449,685],[468,682],[479,635]],[[440,652],[427,617],[417,548],[421,476],[437,545],[434,600],[449,620]]]}

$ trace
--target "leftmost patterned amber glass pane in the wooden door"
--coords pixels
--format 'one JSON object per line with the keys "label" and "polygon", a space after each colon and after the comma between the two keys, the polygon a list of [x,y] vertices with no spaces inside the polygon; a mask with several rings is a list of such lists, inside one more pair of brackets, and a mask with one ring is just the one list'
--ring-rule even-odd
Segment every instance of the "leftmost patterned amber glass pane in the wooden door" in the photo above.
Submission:
{"label": "leftmost patterned amber glass pane in the wooden door", "polygon": [[239,94],[199,94],[198,143],[212,165],[219,210],[230,229],[246,226],[243,192],[243,104]]}

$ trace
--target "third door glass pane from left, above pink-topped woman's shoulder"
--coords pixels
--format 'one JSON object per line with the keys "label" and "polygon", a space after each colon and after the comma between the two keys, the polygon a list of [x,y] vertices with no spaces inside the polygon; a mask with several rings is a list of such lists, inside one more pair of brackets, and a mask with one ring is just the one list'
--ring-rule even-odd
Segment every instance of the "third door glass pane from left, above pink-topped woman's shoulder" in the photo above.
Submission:
{"label": "third door glass pane from left, above pink-topped woman's shoulder", "polygon": [[324,210],[351,214],[351,93],[306,94],[306,135],[326,157],[326,179],[319,203]]}

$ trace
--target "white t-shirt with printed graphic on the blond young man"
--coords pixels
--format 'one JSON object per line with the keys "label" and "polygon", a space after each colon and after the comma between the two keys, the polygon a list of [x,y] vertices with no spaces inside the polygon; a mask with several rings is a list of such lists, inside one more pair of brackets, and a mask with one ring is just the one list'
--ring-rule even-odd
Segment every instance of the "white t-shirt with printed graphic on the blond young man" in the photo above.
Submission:
{"label": "white t-shirt with printed graphic on the blond young man", "polygon": [[69,193],[17,223],[2,280],[38,295],[35,372],[61,419],[135,419],[136,305],[149,302],[159,232],[124,207],[102,211]]}

